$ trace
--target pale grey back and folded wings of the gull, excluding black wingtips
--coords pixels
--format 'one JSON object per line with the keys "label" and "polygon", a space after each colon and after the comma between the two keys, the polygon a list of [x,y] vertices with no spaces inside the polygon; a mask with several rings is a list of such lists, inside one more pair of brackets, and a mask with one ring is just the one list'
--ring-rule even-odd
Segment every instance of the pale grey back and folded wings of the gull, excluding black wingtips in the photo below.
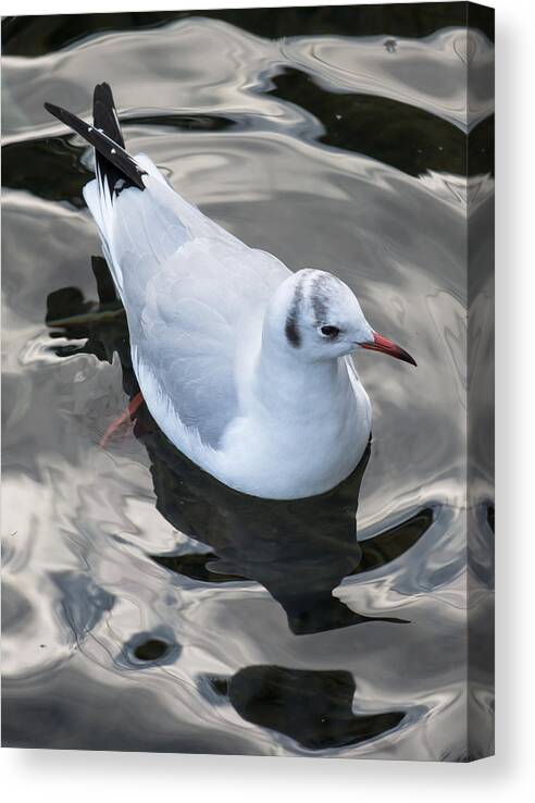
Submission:
{"label": "pale grey back and folded wings of the gull, excluding black wingtips", "polygon": [[216,448],[239,412],[239,321],[265,306],[289,271],[178,198],[147,157],[136,160],[148,172],[146,189],[121,193],[113,227],[135,359],[182,423]]}

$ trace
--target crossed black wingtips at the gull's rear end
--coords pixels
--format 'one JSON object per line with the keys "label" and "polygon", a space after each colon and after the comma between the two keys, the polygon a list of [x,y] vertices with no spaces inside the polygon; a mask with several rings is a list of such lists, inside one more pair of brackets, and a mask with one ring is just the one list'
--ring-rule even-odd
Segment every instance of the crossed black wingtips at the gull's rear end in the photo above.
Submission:
{"label": "crossed black wingtips at the gull's rear end", "polygon": [[95,87],[92,125],[59,106],[45,103],[45,108],[94,146],[96,172],[101,192],[104,186],[109,188],[110,194],[119,192],[124,186],[145,189],[142,176],[146,171],[124,148],[113,95],[108,84],[97,84]]}

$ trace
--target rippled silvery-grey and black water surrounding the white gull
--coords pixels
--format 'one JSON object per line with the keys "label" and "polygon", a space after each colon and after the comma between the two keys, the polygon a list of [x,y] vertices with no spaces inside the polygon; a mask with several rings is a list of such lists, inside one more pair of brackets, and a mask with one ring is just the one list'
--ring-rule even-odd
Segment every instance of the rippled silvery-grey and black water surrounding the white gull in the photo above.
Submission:
{"label": "rippled silvery-grey and black water surrounding the white gull", "polygon": [[[475,471],[465,443],[466,213],[477,300],[494,49],[459,7],[4,21],[5,744],[492,750],[488,432]],[[87,115],[103,79],[130,150],[249,245],[341,276],[415,356],[359,356],[373,440],[334,491],[231,491],[142,407],[99,446],[137,385],[82,200],[91,153],[42,102]]]}

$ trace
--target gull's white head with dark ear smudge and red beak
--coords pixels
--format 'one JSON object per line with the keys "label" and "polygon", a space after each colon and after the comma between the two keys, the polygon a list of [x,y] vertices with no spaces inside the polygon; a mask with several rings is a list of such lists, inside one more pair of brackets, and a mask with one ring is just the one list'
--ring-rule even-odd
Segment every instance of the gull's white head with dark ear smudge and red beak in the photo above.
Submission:
{"label": "gull's white head with dark ear smudge and red beak", "polygon": [[405,349],[372,329],[354,293],[325,271],[304,269],[288,276],[270,304],[265,326],[304,360],[335,359],[365,348],[416,365]]}

